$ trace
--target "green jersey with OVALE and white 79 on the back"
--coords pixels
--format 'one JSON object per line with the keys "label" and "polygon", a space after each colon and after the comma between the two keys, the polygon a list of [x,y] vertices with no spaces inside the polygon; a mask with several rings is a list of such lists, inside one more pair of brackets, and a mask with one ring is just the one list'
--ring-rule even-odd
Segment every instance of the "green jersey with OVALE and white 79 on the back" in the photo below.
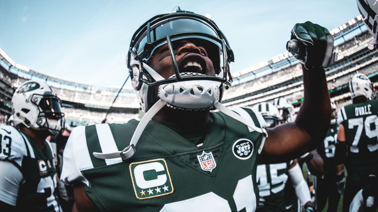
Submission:
{"label": "green jersey with OVALE and white 79 on the back", "polygon": [[348,178],[359,180],[378,167],[378,100],[343,106],[338,123],[345,129]]}

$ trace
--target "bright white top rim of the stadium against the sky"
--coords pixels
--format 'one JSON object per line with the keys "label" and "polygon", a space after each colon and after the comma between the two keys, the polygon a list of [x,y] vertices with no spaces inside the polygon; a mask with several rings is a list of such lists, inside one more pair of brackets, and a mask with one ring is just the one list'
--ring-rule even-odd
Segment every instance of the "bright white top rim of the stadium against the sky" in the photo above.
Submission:
{"label": "bright white top rim of the stadium against the sky", "polygon": [[[332,29],[330,33],[335,38],[335,45],[345,42],[350,37],[353,37],[355,34],[352,32],[355,29],[360,29],[361,32],[366,30],[364,27],[364,21],[361,15],[357,15],[355,18],[352,18],[348,22],[340,25],[339,27]],[[238,81],[234,81],[233,85],[240,84],[245,81],[253,80],[258,77],[262,77],[271,72],[278,71],[287,66],[299,63],[293,55],[289,52],[283,52],[279,55],[276,55],[271,58],[271,60],[263,61],[256,65],[253,65],[249,68],[243,69],[239,72],[234,72],[232,77]],[[0,48],[0,65],[6,68],[9,72],[19,75],[20,77],[31,79],[33,77],[45,80],[46,83],[57,88],[64,88],[73,91],[87,91],[87,92],[109,92],[112,94],[118,93],[120,88],[111,88],[104,86],[95,86],[90,84],[77,83],[74,81],[63,80],[57,77],[50,75],[42,74],[40,72],[34,71],[26,66],[23,66],[19,63],[16,63],[9,57],[1,48]],[[135,91],[131,88],[122,89],[120,95],[135,95]]]}

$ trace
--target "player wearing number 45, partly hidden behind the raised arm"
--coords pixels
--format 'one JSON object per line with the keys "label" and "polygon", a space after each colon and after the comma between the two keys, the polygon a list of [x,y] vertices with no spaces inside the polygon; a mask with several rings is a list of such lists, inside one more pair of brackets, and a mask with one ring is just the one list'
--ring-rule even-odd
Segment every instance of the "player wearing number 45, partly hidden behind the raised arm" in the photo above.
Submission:
{"label": "player wearing number 45, partly hidden behind the raised arm", "polygon": [[[279,110],[271,103],[259,103],[253,106],[266,121],[267,128],[274,128],[281,123]],[[299,197],[307,211],[313,212],[310,190],[303,178],[302,169],[297,159],[290,163],[259,164],[257,165],[257,186],[259,187],[260,204],[256,211],[282,212],[285,211],[284,187],[288,180],[294,186],[296,196]]]}

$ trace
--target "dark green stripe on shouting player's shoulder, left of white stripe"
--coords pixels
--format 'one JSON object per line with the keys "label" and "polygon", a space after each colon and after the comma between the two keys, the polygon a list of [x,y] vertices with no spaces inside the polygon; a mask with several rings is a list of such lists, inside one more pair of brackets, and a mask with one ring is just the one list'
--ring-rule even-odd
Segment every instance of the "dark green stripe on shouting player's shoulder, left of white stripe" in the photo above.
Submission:
{"label": "dark green stripe on shouting player's shoulder, left of white stripe", "polygon": [[106,165],[104,160],[98,159],[93,155],[93,152],[102,152],[97,133],[96,125],[85,127],[85,138],[87,138],[89,157],[94,167]]}

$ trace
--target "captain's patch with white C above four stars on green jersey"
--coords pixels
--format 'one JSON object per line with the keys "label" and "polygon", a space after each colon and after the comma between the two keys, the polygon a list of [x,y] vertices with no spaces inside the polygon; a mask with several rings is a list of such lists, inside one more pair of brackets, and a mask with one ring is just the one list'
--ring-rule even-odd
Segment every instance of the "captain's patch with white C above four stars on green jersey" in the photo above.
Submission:
{"label": "captain's patch with white C above four stars on green jersey", "polygon": [[163,158],[131,163],[129,166],[135,196],[138,200],[173,193],[167,163]]}

